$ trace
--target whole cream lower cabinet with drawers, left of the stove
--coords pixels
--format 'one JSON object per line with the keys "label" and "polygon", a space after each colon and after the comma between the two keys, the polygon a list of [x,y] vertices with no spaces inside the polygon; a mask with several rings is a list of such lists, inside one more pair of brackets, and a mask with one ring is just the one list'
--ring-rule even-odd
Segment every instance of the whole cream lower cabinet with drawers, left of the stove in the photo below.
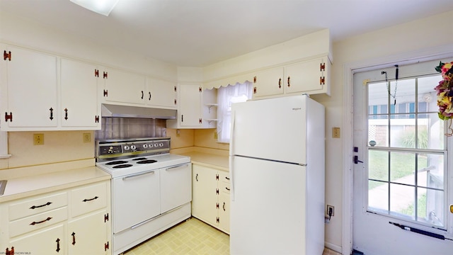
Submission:
{"label": "whole cream lower cabinet with drawers, left of the stove", "polygon": [[110,255],[109,214],[110,180],[0,203],[0,254]]}

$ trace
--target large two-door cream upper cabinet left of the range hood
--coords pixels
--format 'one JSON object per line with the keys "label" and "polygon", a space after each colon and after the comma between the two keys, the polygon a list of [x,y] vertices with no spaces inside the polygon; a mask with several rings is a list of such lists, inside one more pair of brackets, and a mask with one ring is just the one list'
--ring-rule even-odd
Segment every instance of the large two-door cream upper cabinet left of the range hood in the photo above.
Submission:
{"label": "large two-door cream upper cabinet left of the range hood", "polygon": [[97,130],[98,87],[91,64],[1,45],[3,131]]}

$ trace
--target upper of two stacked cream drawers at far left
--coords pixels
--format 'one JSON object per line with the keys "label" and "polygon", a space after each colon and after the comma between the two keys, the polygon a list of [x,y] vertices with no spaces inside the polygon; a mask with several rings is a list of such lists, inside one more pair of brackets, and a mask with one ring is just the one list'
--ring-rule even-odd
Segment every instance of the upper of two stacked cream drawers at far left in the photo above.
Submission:
{"label": "upper of two stacked cream drawers at far left", "polygon": [[45,196],[35,196],[22,199],[17,203],[11,203],[8,209],[9,220],[17,220],[21,217],[47,212],[55,208],[61,208],[68,204],[67,193],[57,193]]}

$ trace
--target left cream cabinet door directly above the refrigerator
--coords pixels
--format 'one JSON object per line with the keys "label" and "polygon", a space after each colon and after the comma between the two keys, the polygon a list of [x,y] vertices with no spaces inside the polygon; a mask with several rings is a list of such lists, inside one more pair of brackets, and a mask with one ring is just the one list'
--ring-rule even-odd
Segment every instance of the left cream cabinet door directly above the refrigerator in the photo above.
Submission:
{"label": "left cream cabinet door directly above the refrigerator", "polygon": [[253,97],[283,94],[283,75],[283,67],[258,72],[253,84]]}

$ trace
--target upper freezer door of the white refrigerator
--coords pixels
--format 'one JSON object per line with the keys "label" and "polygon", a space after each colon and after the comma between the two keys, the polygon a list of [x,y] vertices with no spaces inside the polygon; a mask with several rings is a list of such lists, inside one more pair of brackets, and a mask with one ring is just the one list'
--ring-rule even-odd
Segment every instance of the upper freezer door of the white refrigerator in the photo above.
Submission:
{"label": "upper freezer door of the white refrigerator", "polygon": [[306,164],[306,117],[311,110],[307,99],[288,96],[234,103],[230,154]]}

